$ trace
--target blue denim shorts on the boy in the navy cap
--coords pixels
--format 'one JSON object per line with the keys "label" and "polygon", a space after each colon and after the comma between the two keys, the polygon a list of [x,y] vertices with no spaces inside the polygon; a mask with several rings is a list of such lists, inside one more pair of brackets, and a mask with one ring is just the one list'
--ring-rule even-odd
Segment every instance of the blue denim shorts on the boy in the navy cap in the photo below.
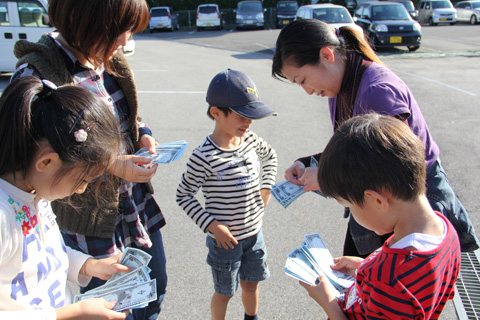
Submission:
{"label": "blue denim shorts on the boy in the navy cap", "polygon": [[207,236],[207,263],[212,267],[215,292],[232,296],[238,289],[238,279],[258,282],[267,279],[267,248],[262,230],[256,235],[239,240],[233,249],[223,249]]}

